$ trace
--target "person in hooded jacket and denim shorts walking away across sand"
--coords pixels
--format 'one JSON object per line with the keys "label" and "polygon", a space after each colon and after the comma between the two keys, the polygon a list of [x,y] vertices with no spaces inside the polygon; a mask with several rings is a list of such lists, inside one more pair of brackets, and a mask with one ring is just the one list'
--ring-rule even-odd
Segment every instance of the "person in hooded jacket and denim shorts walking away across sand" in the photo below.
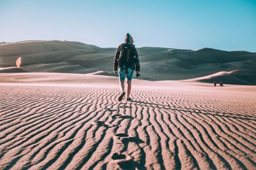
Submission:
{"label": "person in hooded jacket and denim shorts walking away across sand", "polygon": [[133,45],[132,36],[127,33],[125,37],[125,43],[122,43],[116,49],[115,59],[114,59],[114,73],[118,74],[121,94],[118,97],[118,101],[122,101],[125,96],[125,76],[127,78],[127,91],[126,91],[126,101],[132,101],[130,97],[131,93],[131,83],[133,71],[136,71],[136,76],[140,76],[140,61],[138,58],[138,52]]}

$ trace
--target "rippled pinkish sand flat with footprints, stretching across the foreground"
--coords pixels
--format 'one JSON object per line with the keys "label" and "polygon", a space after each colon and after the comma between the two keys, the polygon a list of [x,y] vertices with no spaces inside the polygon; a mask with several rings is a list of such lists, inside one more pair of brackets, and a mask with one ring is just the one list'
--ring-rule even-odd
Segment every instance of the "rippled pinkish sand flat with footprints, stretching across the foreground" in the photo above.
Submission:
{"label": "rippled pinkish sand flat with footprints, stretching across the foreground", "polygon": [[0,169],[256,169],[256,87],[2,73]]}

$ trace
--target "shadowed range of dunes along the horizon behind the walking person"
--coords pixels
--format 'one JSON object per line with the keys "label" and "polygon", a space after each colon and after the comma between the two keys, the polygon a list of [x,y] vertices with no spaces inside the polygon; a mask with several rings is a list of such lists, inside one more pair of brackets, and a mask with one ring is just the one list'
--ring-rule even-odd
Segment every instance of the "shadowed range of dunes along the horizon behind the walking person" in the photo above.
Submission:
{"label": "shadowed range of dunes along the horizon behind the walking person", "polygon": [[[93,73],[105,71],[113,75],[116,48],[99,48],[72,41],[24,41],[0,45],[0,67],[14,67],[21,57],[21,68],[28,72]],[[234,74],[214,76],[206,83],[256,85],[256,53],[226,52],[212,48],[182,50],[173,48],[138,48],[141,77],[144,80],[193,79],[221,71]],[[7,69],[8,70],[8,69]],[[19,69],[20,70],[20,69]],[[17,72],[19,72],[16,69]],[[13,69],[10,69],[13,71]],[[135,77],[134,77],[135,78]]]}

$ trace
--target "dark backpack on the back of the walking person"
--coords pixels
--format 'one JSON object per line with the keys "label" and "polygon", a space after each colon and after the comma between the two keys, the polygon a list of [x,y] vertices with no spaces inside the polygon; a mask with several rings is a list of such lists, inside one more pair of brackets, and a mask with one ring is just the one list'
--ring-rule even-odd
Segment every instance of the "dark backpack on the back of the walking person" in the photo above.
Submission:
{"label": "dark backpack on the back of the walking person", "polygon": [[134,45],[126,43],[121,45],[118,65],[121,68],[123,65],[134,68]]}

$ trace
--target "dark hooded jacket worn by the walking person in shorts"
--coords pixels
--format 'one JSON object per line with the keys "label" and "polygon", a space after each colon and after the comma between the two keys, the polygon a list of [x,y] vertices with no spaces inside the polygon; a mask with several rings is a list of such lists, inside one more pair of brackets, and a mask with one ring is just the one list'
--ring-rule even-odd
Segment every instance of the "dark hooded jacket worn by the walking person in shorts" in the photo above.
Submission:
{"label": "dark hooded jacket worn by the walking person in shorts", "polygon": [[133,56],[134,56],[134,64],[131,66],[131,69],[135,69],[136,71],[140,71],[140,60],[139,60],[139,57],[138,57],[138,52],[135,48],[135,46],[132,44],[133,43],[133,39],[132,39],[132,36],[127,33],[126,34],[126,37],[125,37],[125,43],[122,43],[120,46],[118,46],[118,48],[116,49],[116,53],[115,53],[115,59],[114,59],[114,63],[113,63],[113,69],[114,71],[117,71],[118,67],[118,59],[119,59],[119,56],[120,56],[120,52],[121,52],[121,49],[122,49],[122,45],[130,45],[131,48],[133,48]]}

